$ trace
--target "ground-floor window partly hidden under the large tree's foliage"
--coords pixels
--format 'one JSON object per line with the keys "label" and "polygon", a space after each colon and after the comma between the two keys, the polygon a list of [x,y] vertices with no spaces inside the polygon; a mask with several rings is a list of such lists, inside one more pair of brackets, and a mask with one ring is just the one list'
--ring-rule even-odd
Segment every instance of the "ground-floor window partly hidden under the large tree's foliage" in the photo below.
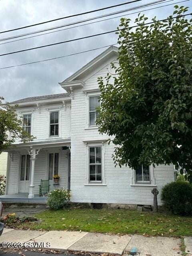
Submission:
{"label": "ground-floor window partly hidden under the large tree's foliage", "polygon": [[151,183],[150,181],[150,168],[140,164],[135,170],[136,183]]}

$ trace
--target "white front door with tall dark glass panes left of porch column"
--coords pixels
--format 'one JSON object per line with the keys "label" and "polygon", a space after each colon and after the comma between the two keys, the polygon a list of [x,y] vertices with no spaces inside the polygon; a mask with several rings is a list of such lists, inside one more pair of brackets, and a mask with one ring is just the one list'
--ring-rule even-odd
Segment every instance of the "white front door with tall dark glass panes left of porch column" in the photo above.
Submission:
{"label": "white front door with tall dark glass panes left of porch column", "polygon": [[29,180],[30,180],[30,155],[22,155],[18,192],[27,193],[29,191]]}

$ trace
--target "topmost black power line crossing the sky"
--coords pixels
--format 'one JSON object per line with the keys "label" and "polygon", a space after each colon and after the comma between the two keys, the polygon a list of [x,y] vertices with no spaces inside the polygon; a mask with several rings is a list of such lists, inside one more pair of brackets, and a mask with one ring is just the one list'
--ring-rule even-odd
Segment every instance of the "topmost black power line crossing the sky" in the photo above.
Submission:
{"label": "topmost black power line crossing the sky", "polygon": [[78,14],[72,14],[72,15],[65,16],[65,17],[62,17],[62,18],[57,18],[57,19],[54,19],[54,20],[47,20],[47,21],[44,21],[44,22],[39,22],[39,23],[36,23],[36,24],[28,25],[28,26],[13,28],[13,29],[10,29],[10,30],[4,30],[4,31],[1,31],[0,34],[6,33],[6,32],[11,32],[11,31],[14,31],[14,30],[23,29],[23,28],[38,26],[38,25],[53,22],[53,21],[56,21],[56,20],[63,20],[63,19],[66,19],[66,18],[72,18],[72,17],[76,17],[76,16],[80,16],[80,15],[84,15],[84,14],[88,14],[88,13],[92,13],[92,12],[98,12],[98,11],[102,11],[102,10],[106,10],[106,9],[110,9],[110,8],[114,8],[114,7],[118,7],[118,6],[122,6],[122,5],[125,5],[125,4],[132,4],[132,3],[140,2],[140,1],[142,1],[142,0],[133,0],[133,1],[130,1],[130,2],[125,2],[125,3],[122,3],[122,4],[107,6],[107,7],[104,7],[104,8],[99,8],[99,9],[95,9],[95,10],[88,11],[88,12],[81,12],[81,13],[78,13]]}

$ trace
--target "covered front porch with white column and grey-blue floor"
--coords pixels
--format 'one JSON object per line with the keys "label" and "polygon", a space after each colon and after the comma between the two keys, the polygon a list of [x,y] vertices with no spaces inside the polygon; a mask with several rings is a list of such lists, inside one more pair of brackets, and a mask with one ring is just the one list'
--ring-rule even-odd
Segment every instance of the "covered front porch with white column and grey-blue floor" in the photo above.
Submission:
{"label": "covered front porch with white column and grey-blue floor", "polygon": [[[58,183],[55,174],[60,176]],[[3,202],[46,202],[46,193],[39,194],[41,180],[49,190],[70,187],[70,140],[20,143],[8,149]]]}

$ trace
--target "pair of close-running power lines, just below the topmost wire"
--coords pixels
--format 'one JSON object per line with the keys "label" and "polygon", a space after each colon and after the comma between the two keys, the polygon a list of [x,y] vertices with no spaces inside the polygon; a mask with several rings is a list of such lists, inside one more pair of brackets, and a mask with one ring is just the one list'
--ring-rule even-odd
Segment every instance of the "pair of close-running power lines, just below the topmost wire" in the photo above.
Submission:
{"label": "pair of close-running power lines, just below the topmost wire", "polygon": [[[172,2],[174,0],[169,0],[167,2]],[[180,1],[180,2],[174,2],[173,4],[179,4],[179,3],[183,3],[183,2],[188,2],[190,0],[184,0],[184,1]],[[157,3],[157,4],[160,4],[160,3]],[[150,6],[154,6],[154,5],[157,5],[157,4],[152,4]],[[154,9],[158,9],[158,8],[162,8],[162,7],[166,7],[166,6],[170,6],[170,5],[173,5],[173,4],[165,4],[165,5],[162,5],[162,6],[157,6],[157,7],[154,7],[154,8],[149,8],[149,9],[145,9],[145,10],[140,10],[138,12],[132,12],[132,13],[126,13],[124,14],[125,15],[132,15],[132,14],[136,14],[136,13],[139,13],[139,12],[143,12],[143,11],[148,11],[148,10],[154,10]],[[73,27],[70,27],[70,28],[64,28],[64,29],[60,29],[60,30],[56,30],[56,31],[52,31],[52,32],[47,32],[47,33],[44,33],[44,34],[39,34],[39,35],[35,35],[35,36],[28,36],[26,38],[20,38],[20,39],[17,39],[17,40],[13,40],[13,41],[9,41],[9,42],[4,42],[4,43],[1,43],[1,44],[8,44],[8,43],[12,43],[12,42],[17,42],[17,41],[20,41],[20,40],[25,40],[25,39],[28,39],[28,38],[34,38],[36,36],[43,36],[43,35],[46,35],[46,34],[52,34],[52,33],[55,33],[55,32],[60,32],[60,31],[64,31],[64,30],[68,30],[68,29],[71,29],[71,28],[78,28],[78,27],[81,27],[81,26],[86,26],[86,25],[90,25],[90,24],[94,24],[94,23],[98,23],[98,22],[103,22],[103,21],[106,21],[106,20],[112,20],[112,19],[116,19],[116,18],[119,18],[119,17],[122,17],[122,15],[119,15],[119,16],[115,16],[115,17],[112,17],[112,18],[107,18],[107,19],[104,19],[104,20],[98,20],[98,21],[95,21],[95,22],[90,22],[90,23],[87,23],[87,24],[81,24],[81,25],[78,25],[78,26],[73,26]],[[64,25],[66,26],[66,25]],[[48,30],[52,30],[54,28],[50,28]],[[35,33],[38,33],[38,32],[35,32]],[[20,35],[21,36],[21,35]],[[13,37],[14,38],[14,37]],[[11,39],[11,38],[10,38]],[[10,40],[9,39],[9,40]],[[4,38],[4,40],[8,40],[8,38]],[[0,40],[0,41],[3,41]],[[1,45],[0,44],[0,45]]]}

